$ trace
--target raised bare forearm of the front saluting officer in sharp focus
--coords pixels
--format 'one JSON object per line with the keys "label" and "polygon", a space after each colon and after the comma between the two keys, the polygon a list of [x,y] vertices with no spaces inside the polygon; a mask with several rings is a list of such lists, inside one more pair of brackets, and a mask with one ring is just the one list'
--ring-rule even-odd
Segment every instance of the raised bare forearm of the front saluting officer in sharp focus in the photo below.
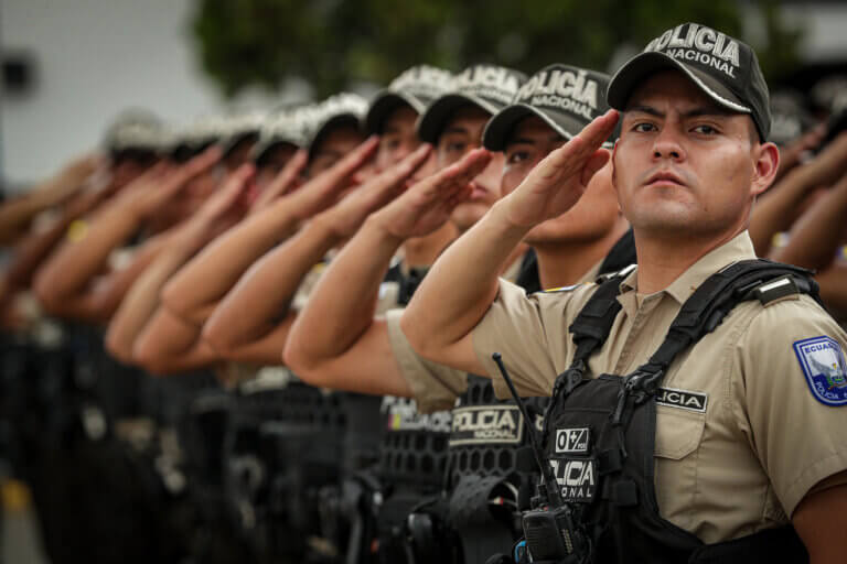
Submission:
{"label": "raised bare forearm of the front saluting officer in sharp focus", "polygon": [[500,272],[530,228],[500,200],[436,261],[406,308],[401,327],[415,349],[438,360],[479,324],[497,295]]}

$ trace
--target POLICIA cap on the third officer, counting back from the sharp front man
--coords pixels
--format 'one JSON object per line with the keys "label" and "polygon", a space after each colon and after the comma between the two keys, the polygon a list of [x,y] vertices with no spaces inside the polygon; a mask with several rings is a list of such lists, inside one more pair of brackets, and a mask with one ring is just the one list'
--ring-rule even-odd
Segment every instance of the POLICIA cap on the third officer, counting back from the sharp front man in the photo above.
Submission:
{"label": "POLICIA cap on the third officer, counting back from the sharp front man", "polygon": [[450,91],[435,100],[418,120],[418,137],[436,143],[444,123],[458,108],[472,104],[492,116],[512,102],[526,75],[494,65],[474,65],[453,78]]}

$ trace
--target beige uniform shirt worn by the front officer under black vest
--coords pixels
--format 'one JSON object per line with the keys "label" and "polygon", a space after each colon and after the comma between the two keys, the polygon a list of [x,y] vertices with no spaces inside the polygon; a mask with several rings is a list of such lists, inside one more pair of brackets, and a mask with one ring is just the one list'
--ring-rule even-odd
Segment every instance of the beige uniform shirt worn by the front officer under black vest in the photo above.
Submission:
{"label": "beige uniform shirt worn by the front officer under black vest", "polygon": [[[611,335],[589,360],[590,375],[626,375],[644,364],[696,288],[722,267],[750,258],[753,247],[743,232],[655,294],[636,296],[633,272],[621,284],[622,310]],[[501,282],[497,300],[472,334],[498,397],[508,391],[491,359],[494,351],[522,394],[551,392],[572,358],[568,326],[594,288],[526,296]],[[676,358],[662,387],[695,394],[705,405],[657,405],[655,482],[665,519],[707,543],[736,539],[787,522],[813,486],[847,468],[847,405],[816,398],[801,357],[823,357],[795,350],[816,337],[834,339],[841,350],[847,343],[808,296],[764,306],[744,302]]]}

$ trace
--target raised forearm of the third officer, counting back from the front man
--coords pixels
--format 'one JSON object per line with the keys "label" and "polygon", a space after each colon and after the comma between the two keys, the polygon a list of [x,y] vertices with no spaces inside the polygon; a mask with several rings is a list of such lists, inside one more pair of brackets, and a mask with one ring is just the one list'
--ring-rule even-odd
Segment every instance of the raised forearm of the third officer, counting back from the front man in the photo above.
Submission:
{"label": "raised forearm of the third officer, counting back from the front man", "polygon": [[311,221],[242,276],[206,322],[204,338],[226,354],[271,332],[287,315],[305,274],[337,242],[329,226]]}

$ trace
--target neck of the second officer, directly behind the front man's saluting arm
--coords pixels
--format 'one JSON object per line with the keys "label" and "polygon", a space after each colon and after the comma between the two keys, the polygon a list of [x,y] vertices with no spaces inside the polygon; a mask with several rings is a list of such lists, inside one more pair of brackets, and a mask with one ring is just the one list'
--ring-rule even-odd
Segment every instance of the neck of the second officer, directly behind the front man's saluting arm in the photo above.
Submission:
{"label": "neck of the second officer, directly behind the front man's saluting arm", "polygon": [[594,264],[609,254],[628,229],[629,224],[622,219],[598,239],[533,242],[542,288],[549,290],[580,282]]}

